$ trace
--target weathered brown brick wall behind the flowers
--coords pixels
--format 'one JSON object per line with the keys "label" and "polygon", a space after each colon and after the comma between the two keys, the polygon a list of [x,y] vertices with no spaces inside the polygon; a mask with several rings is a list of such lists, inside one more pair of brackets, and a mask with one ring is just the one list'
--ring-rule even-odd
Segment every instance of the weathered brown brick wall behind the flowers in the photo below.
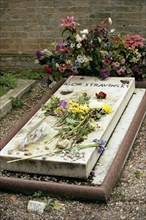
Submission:
{"label": "weathered brown brick wall behind the flowers", "polygon": [[67,15],[81,28],[111,17],[116,30],[146,38],[146,0],[0,0],[1,69],[33,68],[35,51],[60,38]]}

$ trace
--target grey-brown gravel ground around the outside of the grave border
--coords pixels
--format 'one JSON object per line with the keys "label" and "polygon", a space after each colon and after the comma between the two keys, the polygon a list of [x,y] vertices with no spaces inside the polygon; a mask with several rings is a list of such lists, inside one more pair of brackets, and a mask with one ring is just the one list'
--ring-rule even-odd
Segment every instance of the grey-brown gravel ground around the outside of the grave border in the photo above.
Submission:
{"label": "grey-brown gravel ground around the outside of the grave border", "polygon": [[[22,109],[13,109],[0,119],[1,138],[17,124],[42,95],[48,90],[38,82],[32,91],[23,97]],[[145,146],[146,118],[137,135],[123,172],[106,204],[72,201],[40,195],[25,196],[0,192],[1,220],[144,220],[145,205]],[[29,200],[47,201],[43,214],[28,212]],[[58,207],[58,210],[57,210]]]}

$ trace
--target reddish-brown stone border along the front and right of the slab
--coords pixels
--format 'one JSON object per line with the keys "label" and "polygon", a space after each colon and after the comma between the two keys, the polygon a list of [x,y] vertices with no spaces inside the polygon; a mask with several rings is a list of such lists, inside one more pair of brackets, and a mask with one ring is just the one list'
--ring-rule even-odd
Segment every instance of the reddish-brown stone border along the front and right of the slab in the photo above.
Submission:
{"label": "reddish-brown stone border along the front and right of the slab", "polygon": [[[62,83],[63,82],[61,82],[61,84]],[[120,175],[120,172],[124,166],[126,158],[132,147],[132,144],[136,138],[136,134],[143,121],[146,111],[145,103],[146,103],[146,93],[143,96],[137,108],[135,116],[131,121],[127,134],[125,135],[121,143],[119,151],[113,160],[110,170],[108,171],[106,178],[104,179],[103,183],[100,186],[82,186],[82,185],[78,186],[78,185],[60,184],[54,182],[52,183],[52,182],[35,181],[35,180],[24,180],[24,179],[12,178],[12,177],[0,177],[0,189],[6,190],[7,192],[13,191],[17,193],[21,192],[27,194],[32,194],[40,190],[44,194],[49,194],[53,196],[63,196],[63,197],[67,196],[74,199],[76,198],[76,199],[92,200],[92,201],[97,201],[97,200],[104,202],[107,201],[110,196],[111,190],[114,187]],[[33,114],[31,113],[31,116],[32,115]],[[21,124],[21,126],[23,125]],[[19,129],[20,129],[20,125],[17,127],[17,129],[15,129],[15,132],[17,133]],[[12,136],[9,138],[12,138]],[[2,149],[5,146],[6,142],[7,142],[6,140],[3,140],[0,149]]]}

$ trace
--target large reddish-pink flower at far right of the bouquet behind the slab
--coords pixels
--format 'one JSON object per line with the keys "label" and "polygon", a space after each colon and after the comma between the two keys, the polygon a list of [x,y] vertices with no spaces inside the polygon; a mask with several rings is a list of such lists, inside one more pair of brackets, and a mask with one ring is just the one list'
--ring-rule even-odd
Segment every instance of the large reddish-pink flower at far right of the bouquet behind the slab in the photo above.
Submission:
{"label": "large reddish-pink flower at far right of the bouquet behind the slab", "polygon": [[138,47],[138,46],[144,46],[144,41],[145,39],[142,38],[140,35],[135,34],[135,35],[127,35],[126,36],[126,46],[127,47]]}

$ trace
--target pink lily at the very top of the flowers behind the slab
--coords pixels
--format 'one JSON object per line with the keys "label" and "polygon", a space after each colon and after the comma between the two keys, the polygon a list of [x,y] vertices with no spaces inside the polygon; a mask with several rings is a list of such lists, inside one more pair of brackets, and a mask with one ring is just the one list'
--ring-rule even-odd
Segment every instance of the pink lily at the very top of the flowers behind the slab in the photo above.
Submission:
{"label": "pink lily at the very top of the flowers behind the slab", "polygon": [[67,18],[61,19],[62,23],[60,26],[70,30],[75,30],[79,24],[74,19],[74,16],[67,16]]}

